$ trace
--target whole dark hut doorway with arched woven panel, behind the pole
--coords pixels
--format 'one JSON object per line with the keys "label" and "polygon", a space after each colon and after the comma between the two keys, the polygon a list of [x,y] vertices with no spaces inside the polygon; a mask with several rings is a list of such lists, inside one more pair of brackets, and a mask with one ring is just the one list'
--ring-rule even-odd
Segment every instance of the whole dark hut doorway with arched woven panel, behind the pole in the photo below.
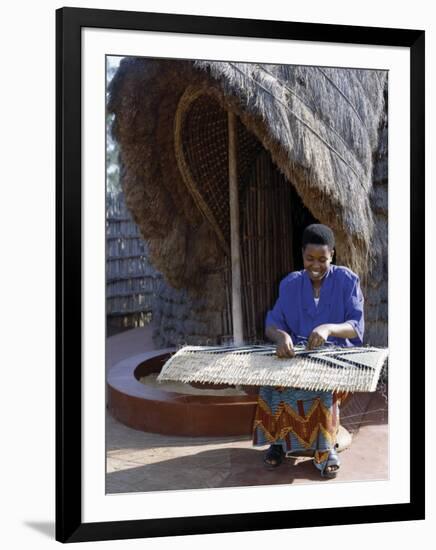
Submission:
{"label": "whole dark hut doorway with arched woven panel, behind the pole", "polygon": [[[243,337],[258,343],[280,280],[302,267],[302,231],[317,220],[239,117],[235,141]],[[228,112],[216,90],[185,91],[177,109],[175,150],[185,184],[225,252],[221,341],[232,341]]]}

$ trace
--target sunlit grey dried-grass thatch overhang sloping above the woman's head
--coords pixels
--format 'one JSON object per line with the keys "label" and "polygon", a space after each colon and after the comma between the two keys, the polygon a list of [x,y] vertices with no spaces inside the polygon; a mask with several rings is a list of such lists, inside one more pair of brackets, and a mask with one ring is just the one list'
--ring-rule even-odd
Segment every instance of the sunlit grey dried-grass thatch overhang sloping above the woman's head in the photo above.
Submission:
{"label": "sunlit grey dried-grass thatch overhang sloping above the woman's head", "polygon": [[[237,97],[243,123],[312,214],[334,228],[338,258],[362,276],[374,249],[369,201],[385,73],[196,62]],[[229,100],[229,99],[228,99]]]}

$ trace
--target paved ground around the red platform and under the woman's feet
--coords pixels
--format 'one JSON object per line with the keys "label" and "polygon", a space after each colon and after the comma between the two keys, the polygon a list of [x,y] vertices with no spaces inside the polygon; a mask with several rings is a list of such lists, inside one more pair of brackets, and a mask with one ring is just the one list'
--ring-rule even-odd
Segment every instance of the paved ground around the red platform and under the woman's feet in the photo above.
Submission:
{"label": "paved ground around the red platform and under the woman's feet", "polygon": [[[128,353],[149,350],[149,329],[134,329],[108,339],[108,368]],[[291,483],[339,483],[388,479],[388,425],[373,416],[340,453],[335,480],[320,478],[308,459],[286,459],[266,470],[267,447],[253,447],[249,436],[194,438],[133,430],[115,420],[106,423],[107,493],[242,487]]]}

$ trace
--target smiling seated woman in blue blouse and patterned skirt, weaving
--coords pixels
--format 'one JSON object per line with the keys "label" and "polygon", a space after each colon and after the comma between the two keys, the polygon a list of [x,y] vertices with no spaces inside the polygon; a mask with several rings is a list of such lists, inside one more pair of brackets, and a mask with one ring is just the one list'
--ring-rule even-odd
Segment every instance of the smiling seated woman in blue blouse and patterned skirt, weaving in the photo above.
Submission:
{"label": "smiling seated woman in blue blouse and patterned skirt, weaving", "polygon": [[[266,316],[266,335],[277,344],[277,356],[294,357],[294,346],[314,349],[324,344],[363,344],[363,296],[359,278],[347,267],[332,264],[335,239],[322,224],[308,226],[302,237],[304,269],[280,283],[279,297]],[[313,456],[321,476],[336,477],[339,392],[296,388],[260,388],[253,445],[271,444],[264,462],[279,466],[285,453]]]}

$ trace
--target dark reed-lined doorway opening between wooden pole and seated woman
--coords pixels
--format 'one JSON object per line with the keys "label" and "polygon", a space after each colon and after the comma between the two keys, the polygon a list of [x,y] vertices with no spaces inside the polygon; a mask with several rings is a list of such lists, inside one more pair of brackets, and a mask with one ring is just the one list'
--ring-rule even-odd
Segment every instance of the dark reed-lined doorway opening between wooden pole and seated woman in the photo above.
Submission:
{"label": "dark reed-lined doorway opening between wooden pole and seated woman", "polygon": [[301,234],[316,220],[265,149],[240,199],[244,339],[256,343],[264,339],[265,315],[281,279],[302,268]]}

